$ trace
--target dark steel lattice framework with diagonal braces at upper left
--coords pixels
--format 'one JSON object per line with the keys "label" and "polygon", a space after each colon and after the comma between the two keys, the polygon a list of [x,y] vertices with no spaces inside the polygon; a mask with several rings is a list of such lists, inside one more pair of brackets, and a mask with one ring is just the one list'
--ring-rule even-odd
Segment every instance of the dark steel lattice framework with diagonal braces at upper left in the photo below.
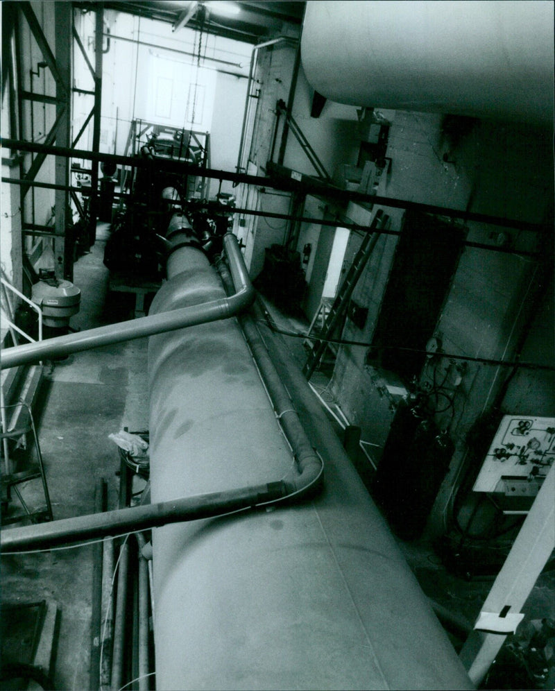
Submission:
{"label": "dark steel lattice framework with diagonal braces at upper left", "polygon": [[[56,143],[63,149],[71,150],[80,137],[85,132],[89,122],[93,119],[93,151],[99,150],[100,142],[100,120],[101,120],[101,87],[102,87],[102,29],[103,29],[103,2],[97,2],[94,6],[96,13],[96,37],[95,37],[95,66],[94,69],[85,53],[83,44],[80,42],[78,33],[73,21],[73,3],[54,3],[54,19],[56,24],[56,46],[52,48],[49,40],[44,34],[43,28],[28,0],[17,3],[6,3],[3,11],[3,45],[4,60],[2,66],[2,87],[6,87],[9,81],[10,89],[10,133],[12,137],[32,140],[35,136],[33,131],[26,133],[25,122],[28,108],[33,108],[33,103],[43,103],[45,107],[56,108],[56,118],[48,133],[44,138],[43,146],[51,146]],[[21,31],[27,26],[31,32],[33,40],[40,50],[42,62],[39,68],[48,69],[56,83],[56,95],[35,93],[33,88],[24,88],[23,75],[23,53]],[[71,94],[72,92],[84,92],[83,89],[71,88],[71,40],[75,40],[80,51],[85,57],[85,62],[92,71],[94,78],[94,91],[87,91],[87,94],[94,96],[94,106],[89,113],[83,127],[77,137],[71,142]],[[36,74],[33,72],[33,74]],[[31,117],[31,122],[33,119]],[[22,149],[24,151],[24,149]],[[35,187],[46,187],[37,184],[37,174],[42,168],[42,164],[49,155],[49,151],[33,151],[31,153],[31,163],[25,160],[24,156],[19,157],[19,190],[20,207],[22,213],[22,237],[26,235],[36,236],[44,234],[51,236],[54,241],[54,255],[56,257],[56,275],[58,278],[73,278],[74,247],[71,234],[67,232],[71,219],[67,218],[69,210],[69,156],[56,153],[55,163],[55,185],[51,189],[56,190],[55,195],[55,225],[40,226],[35,223],[33,218],[28,218],[26,211],[26,196]],[[35,155],[36,154],[36,155]],[[4,180],[6,181],[6,180]],[[13,180],[9,180],[13,182]],[[97,195],[98,195],[99,176],[97,167],[92,170],[92,189],[91,204],[89,214],[89,228],[96,229]],[[71,194],[74,199],[74,194]],[[78,210],[80,205],[77,205]],[[34,208],[34,201],[33,201]],[[80,209],[80,214],[83,209]],[[92,232],[92,230],[89,230]],[[23,244],[23,243],[22,243]]]}

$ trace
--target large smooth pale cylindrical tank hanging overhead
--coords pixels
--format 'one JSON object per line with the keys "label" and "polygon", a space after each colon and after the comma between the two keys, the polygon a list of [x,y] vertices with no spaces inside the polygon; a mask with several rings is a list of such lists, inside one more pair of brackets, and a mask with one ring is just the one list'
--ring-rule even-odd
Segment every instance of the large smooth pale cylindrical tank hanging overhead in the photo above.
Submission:
{"label": "large smooth pale cylindrical tank hanging overhead", "polygon": [[553,126],[551,0],[310,0],[302,67],[332,101]]}

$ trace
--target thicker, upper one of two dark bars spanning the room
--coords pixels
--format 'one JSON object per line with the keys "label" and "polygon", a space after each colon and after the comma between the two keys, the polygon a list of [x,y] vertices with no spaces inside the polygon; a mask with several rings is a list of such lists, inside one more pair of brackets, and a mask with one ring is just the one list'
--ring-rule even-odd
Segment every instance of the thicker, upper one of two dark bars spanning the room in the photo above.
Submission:
{"label": "thicker, upper one of two dark bars spanning the room", "polygon": [[0,137],[0,144],[1,146],[9,148],[12,151],[33,151],[35,153],[67,156],[71,158],[80,158],[83,160],[101,162],[108,161],[120,165],[135,166],[137,168],[155,166],[160,167],[168,172],[181,173],[182,175],[198,175],[201,173],[204,178],[214,178],[215,180],[231,180],[232,182],[236,182],[238,185],[257,185],[258,187],[271,187],[273,189],[290,191],[302,189],[302,191],[306,191],[307,194],[320,194],[330,199],[338,199],[339,201],[350,200],[355,202],[358,201],[380,204],[395,209],[412,209],[422,213],[450,216],[454,219],[464,219],[466,221],[478,221],[480,223],[501,225],[504,228],[518,228],[519,230],[530,230],[532,232],[545,232],[548,228],[548,225],[545,223],[516,221],[515,219],[504,219],[499,216],[490,216],[489,214],[479,214],[477,212],[449,209],[447,207],[432,204],[422,204],[419,202],[408,201],[406,199],[395,199],[372,194],[363,194],[362,192],[348,191],[345,189],[340,189],[339,187],[334,187],[333,185],[328,185],[326,182],[321,180],[309,178],[309,176],[303,176],[302,182],[299,183],[291,178],[291,171],[284,167],[279,167],[276,164],[273,164],[272,167],[276,173],[275,176],[264,177],[248,175],[247,173],[219,171],[210,168],[200,169],[198,166],[193,166],[177,160],[150,160],[147,158],[120,156],[111,153],[85,151],[85,149],[71,149],[63,146],[35,144],[33,142],[24,142],[21,139],[3,139]]}

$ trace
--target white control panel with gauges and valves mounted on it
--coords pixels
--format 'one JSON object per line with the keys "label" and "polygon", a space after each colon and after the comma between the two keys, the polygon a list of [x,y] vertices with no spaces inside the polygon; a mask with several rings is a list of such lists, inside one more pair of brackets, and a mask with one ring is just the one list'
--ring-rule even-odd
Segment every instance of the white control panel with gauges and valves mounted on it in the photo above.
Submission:
{"label": "white control panel with gauges and valves mounted on it", "polygon": [[503,417],[476,479],[507,512],[529,509],[555,459],[555,418]]}

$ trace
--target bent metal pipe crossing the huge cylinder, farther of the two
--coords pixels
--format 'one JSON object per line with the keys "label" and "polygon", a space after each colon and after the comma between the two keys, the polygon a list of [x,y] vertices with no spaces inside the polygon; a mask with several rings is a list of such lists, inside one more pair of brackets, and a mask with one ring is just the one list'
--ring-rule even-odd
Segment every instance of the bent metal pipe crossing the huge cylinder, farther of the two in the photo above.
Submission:
{"label": "bent metal pipe crossing the huge cylinder, farther of the two", "polygon": [[190,307],[174,309],[171,312],[130,319],[67,336],[58,336],[40,343],[28,343],[14,348],[6,348],[2,351],[1,369],[99,348],[101,345],[133,341],[145,336],[176,331],[184,327],[218,321],[239,314],[242,309],[252,304],[255,299],[255,290],[248,278],[248,271],[241,250],[239,250],[237,238],[232,233],[227,233],[223,237],[223,244],[232,267],[234,287],[237,290],[229,298],[211,300],[203,305],[191,305]]}

